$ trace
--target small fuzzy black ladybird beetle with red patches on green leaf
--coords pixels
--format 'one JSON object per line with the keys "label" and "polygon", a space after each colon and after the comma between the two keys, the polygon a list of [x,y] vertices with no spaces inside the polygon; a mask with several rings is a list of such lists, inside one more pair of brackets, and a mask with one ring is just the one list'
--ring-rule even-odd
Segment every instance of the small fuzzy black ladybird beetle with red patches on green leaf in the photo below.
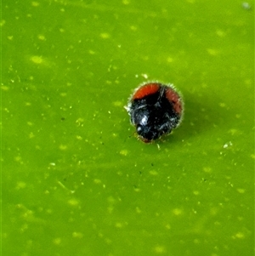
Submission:
{"label": "small fuzzy black ladybird beetle with red patches on green leaf", "polygon": [[125,108],[139,139],[149,143],[178,127],[184,103],[173,84],[145,82],[134,90]]}

